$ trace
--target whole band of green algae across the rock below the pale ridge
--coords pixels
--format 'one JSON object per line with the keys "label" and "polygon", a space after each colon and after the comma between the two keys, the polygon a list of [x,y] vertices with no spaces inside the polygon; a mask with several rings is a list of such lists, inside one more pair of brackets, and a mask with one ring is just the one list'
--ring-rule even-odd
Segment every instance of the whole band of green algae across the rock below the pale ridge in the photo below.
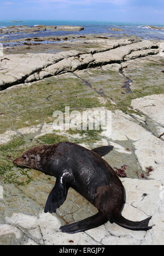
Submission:
{"label": "whole band of green algae across the rock below the pale ridge", "polygon": [[[135,60],[137,61],[137,60]],[[122,110],[131,113],[131,101],[142,96],[163,93],[163,67],[156,62],[143,62],[137,68],[134,65],[126,68],[126,76],[130,77],[132,93],[125,91],[125,77],[118,71],[87,69],[77,71],[81,79],[71,73],[46,78],[34,82],[31,86],[13,87],[0,93],[1,112],[0,133],[5,129],[36,126],[38,123],[53,121],[52,114],[56,110],[83,111],[84,109],[105,106],[109,110]],[[152,75],[153,74],[153,75]],[[84,80],[85,78],[85,80]],[[90,84],[87,86],[85,81]],[[104,98],[102,104],[99,98]],[[112,99],[116,105],[111,104]],[[138,114],[137,111],[134,111]]]}

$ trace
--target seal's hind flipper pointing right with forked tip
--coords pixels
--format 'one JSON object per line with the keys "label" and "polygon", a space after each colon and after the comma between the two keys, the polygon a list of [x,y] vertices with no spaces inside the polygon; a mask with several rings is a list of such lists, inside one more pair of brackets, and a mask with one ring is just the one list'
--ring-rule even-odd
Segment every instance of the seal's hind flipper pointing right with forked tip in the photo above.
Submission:
{"label": "seal's hind flipper pointing right with forked tip", "polygon": [[131,221],[125,219],[120,212],[116,212],[113,214],[113,221],[119,226],[125,227],[126,229],[131,230],[144,230],[147,231],[151,229],[153,226],[148,226],[149,220],[151,217],[144,219],[142,221]]}

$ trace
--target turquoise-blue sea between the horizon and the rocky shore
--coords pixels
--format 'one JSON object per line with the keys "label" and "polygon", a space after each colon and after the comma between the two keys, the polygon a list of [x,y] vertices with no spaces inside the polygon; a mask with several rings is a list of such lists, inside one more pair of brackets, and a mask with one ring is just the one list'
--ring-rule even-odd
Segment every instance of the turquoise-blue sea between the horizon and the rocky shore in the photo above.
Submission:
{"label": "turquoise-blue sea between the horizon and the rocky shore", "polygon": [[[134,22],[111,22],[111,21],[76,21],[76,20],[21,20],[21,22],[12,22],[11,20],[0,21],[0,27],[7,27],[12,25],[26,25],[26,26],[36,26],[36,25],[71,25],[71,26],[83,26],[83,31],[78,32],[66,32],[66,31],[56,31],[51,32],[50,30],[42,31],[37,33],[37,36],[60,36],[67,35],[68,33],[74,33],[79,35],[84,35],[85,33],[98,33],[104,34],[109,33],[110,36],[121,36],[122,33],[128,35],[136,35],[142,37],[143,39],[161,39],[164,40],[164,30],[150,29],[149,25],[164,27],[163,24],[143,24]],[[110,27],[117,27],[124,31],[111,31]],[[28,37],[32,37],[29,35]],[[25,34],[7,34],[0,35],[0,40],[9,40],[27,37]]]}

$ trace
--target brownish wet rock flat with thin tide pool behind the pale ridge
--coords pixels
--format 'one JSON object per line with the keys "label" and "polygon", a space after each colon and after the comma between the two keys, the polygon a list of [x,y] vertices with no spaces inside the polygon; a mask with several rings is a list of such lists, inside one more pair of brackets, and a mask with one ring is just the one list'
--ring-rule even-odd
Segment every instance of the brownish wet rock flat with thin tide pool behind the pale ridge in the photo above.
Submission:
{"label": "brownish wet rock flat with thin tide pool behind the pale ridge", "polygon": [[[135,42],[141,39],[136,36],[125,37],[120,35],[119,37],[120,39],[130,39]],[[101,40],[98,42],[97,39],[108,39],[108,41]],[[72,32],[67,33],[65,36],[40,36],[35,32],[29,34],[29,37],[24,33],[19,39],[10,38],[9,40],[6,36],[2,36],[1,43],[3,44],[4,54],[58,53],[74,49],[87,52],[89,48],[105,48],[106,42],[109,44],[109,41],[115,39],[110,33],[105,33],[104,35],[81,33],[81,35],[78,35]]]}

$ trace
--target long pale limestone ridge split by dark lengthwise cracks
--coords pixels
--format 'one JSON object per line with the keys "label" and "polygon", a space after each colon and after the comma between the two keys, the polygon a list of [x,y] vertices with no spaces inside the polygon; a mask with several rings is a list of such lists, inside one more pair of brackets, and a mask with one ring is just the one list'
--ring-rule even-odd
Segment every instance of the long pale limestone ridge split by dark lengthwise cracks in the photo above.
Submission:
{"label": "long pale limestone ridge split by dark lengthwise cracks", "polygon": [[[97,42],[99,41],[103,40],[97,40]],[[138,58],[140,52],[135,55],[138,50],[145,49],[143,56],[158,53],[157,50],[149,50],[154,47],[154,43],[146,40],[138,43],[133,43],[130,39],[107,41],[106,47],[109,50],[99,49],[95,54],[91,54],[90,50],[85,54],[71,50],[57,54],[4,55],[4,58],[1,59],[0,88],[3,89],[22,82],[38,81],[45,77],[73,72],[91,65],[101,66],[104,63],[122,62],[126,56],[128,59]],[[132,52],[133,54],[131,54]],[[40,72],[42,73],[39,76]]]}

